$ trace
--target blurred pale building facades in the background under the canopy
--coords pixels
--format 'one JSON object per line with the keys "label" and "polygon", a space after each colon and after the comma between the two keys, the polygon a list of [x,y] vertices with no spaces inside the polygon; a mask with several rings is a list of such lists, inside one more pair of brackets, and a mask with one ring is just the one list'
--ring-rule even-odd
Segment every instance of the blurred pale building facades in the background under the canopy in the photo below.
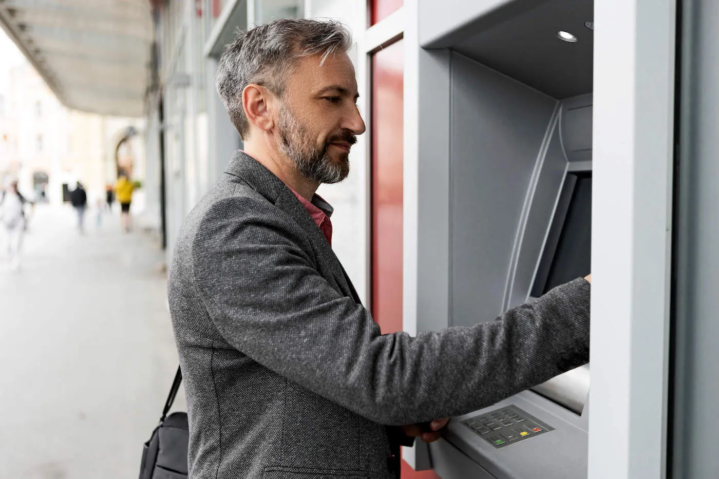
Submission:
{"label": "blurred pale building facades in the background under the canopy", "polygon": [[[29,199],[61,204],[80,181],[94,204],[104,201],[106,185],[116,182],[118,162],[132,164],[137,179],[144,180],[144,120],[66,108],[27,61],[6,68],[0,77],[3,186],[18,181]],[[128,137],[128,128],[138,134]],[[138,212],[144,209],[144,197],[139,192]]]}

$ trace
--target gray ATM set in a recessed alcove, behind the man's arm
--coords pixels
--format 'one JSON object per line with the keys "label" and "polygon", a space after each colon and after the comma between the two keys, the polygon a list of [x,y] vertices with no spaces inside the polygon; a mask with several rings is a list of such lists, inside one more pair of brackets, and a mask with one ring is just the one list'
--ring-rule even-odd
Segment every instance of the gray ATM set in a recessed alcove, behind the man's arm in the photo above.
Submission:
{"label": "gray ATM set in a recessed alcove, behind the man's arm", "polygon": [[[446,195],[449,218],[438,232],[418,199],[419,329],[492,321],[590,273],[592,0],[494,3],[421,45],[420,136],[446,161],[420,148],[418,190]],[[445,132],[427,126],[442,115]],[[423,251],[443,241],[444,263],[432,263]],[[417,452],[419,467],[443,479],[585,478],[589,387],[587,365],[455,417]]]}

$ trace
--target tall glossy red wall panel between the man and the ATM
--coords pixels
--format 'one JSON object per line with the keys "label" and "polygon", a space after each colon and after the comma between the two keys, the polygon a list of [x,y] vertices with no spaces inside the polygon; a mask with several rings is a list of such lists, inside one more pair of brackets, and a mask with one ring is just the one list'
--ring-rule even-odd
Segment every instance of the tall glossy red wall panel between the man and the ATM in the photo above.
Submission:
{"label": "tall glossy red wall panel between the man and the ATM", "polygon": [[[403,94],[400,40],[372,55],[372,316],[383,333],[402,330]],[[402,478],[440,479],[404,461]]]}

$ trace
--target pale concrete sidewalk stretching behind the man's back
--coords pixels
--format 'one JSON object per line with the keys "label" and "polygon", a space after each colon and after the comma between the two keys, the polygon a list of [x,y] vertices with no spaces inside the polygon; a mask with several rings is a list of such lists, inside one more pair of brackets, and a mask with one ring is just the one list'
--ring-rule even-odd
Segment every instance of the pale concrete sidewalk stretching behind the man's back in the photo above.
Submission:
{"label": "pale concrete sidewalk stretching behind the man's back", "polygon": [[139,473],[177,367],[164,254],[102,219],[38,206],[19,273],[0,232],[0,479]]}

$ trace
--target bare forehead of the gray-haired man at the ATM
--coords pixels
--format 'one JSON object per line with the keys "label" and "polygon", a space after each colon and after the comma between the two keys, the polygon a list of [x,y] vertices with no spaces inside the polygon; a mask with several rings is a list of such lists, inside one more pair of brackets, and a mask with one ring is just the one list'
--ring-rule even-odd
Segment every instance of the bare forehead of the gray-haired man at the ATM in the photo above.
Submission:
{"label": "bare forehead of the gray-haired man at the ATM", "polygon": [[[322,55],[301,58],[288,79],[288,89],[312,93],[326,86],[342,86],[351,93],[357,92],[354,65],[345,52],[328,55],[321,63]],[[321,63],[321,64],[320,64]]]}

